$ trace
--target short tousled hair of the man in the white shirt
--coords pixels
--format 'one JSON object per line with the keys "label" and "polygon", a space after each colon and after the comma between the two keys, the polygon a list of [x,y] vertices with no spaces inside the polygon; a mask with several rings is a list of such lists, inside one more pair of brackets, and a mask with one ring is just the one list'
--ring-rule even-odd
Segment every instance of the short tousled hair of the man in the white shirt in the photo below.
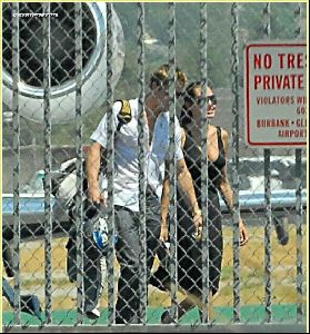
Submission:
{"label": "short tousled hair of the man in the white shirt", "polygon": [[[168,63],[163,63],[159,67],[157,71],[154,71],[151,75],[150,78],[150,88],[152,89],[154,86],[166,86],[168,87],[169,85],[169,71],[170,67]],[[177,73],[177,82],[179,85],[178,88],[183,90],[186,87],[186,84],[188,81],[188,78],[183,71],[181,71],[178,67],[176,68],[176,73]]]}

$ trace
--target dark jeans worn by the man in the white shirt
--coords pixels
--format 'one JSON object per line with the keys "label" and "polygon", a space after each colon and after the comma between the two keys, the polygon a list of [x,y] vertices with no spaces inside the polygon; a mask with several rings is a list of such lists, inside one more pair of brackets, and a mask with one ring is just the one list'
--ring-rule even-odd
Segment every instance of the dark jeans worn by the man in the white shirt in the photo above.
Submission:
{"label": "dark jeans worn by the man in the white shirt", "polygon": [[[139,279],[141,254],[139,214],[116,206],[116,230],[118,234],[117,257],[120,263],[116,323],[139,323]],[[148,278],[159,247],[160,203],[154,193],[147,190],[147,272]]]}

